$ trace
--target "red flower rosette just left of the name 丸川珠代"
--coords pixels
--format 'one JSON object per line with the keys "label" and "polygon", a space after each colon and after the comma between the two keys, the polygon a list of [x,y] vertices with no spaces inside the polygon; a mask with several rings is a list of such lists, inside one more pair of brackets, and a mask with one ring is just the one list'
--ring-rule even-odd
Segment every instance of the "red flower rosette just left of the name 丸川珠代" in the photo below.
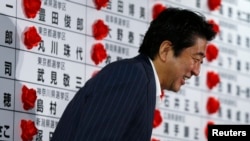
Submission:
{"label": "red flower rosette just left of the name \u4e38\u5ddd\u73e0\u4ee3", "polygon": [[24,33],[24,44],[27,49],[32,49],[41,42],[42,38],[37,33],[37,30],[34,26],[29,27],[27,31]]}

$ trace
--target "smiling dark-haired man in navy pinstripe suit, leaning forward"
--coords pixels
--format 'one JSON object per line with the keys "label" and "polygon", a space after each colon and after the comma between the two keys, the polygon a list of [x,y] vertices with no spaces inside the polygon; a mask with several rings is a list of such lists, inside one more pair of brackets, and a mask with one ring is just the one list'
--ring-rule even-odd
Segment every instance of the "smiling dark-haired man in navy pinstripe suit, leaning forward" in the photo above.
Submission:
{"label": "smiling dark-haired man in navy pinstripe suit, leaning forward", "polygon": [[138,56],[105,66],[77,92],[52,141],[150,141],[156,97],[199,75],[215,34],[202,15],[164,10],[151,22]]}

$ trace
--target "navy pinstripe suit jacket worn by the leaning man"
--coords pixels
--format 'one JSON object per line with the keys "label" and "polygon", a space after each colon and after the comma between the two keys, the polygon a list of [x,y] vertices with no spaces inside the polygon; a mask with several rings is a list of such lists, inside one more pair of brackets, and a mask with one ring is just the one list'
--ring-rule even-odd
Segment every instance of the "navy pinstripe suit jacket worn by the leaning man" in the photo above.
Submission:
{"label": "navy pinstripe suit jacket worn by the leaning man", "polygon": [[52,141],[150,141],[155,85],[144,55],[105,66],[68,104]]}

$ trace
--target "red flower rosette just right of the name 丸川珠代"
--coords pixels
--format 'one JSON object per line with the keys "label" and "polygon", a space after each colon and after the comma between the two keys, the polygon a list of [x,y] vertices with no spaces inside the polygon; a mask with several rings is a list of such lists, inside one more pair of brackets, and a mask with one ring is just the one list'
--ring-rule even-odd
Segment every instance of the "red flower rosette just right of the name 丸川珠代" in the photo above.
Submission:
{"label": "red flower rosette just right of the name \u4e38\u5ddd\u73e0\u4ee3", "polygon": [[101,63],[104,59],[107,58],[106,50],[101,43],[94,44],[91,52],[91,59],[96,65]]}

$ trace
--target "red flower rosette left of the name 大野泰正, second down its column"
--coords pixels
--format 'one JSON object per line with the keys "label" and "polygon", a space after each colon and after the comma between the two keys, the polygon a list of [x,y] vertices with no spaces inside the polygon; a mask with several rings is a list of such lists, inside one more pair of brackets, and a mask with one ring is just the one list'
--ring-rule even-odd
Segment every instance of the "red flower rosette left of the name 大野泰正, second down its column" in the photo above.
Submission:
{"label": "red flower rosette left of the name \u5927\u91ce\u6cf0\u6b63, second down its column", "polygon": [[103,20],[95,21],[92,28],[93,36],[96,40],[104,39],[109,33],[109,27],[104,24]]}

